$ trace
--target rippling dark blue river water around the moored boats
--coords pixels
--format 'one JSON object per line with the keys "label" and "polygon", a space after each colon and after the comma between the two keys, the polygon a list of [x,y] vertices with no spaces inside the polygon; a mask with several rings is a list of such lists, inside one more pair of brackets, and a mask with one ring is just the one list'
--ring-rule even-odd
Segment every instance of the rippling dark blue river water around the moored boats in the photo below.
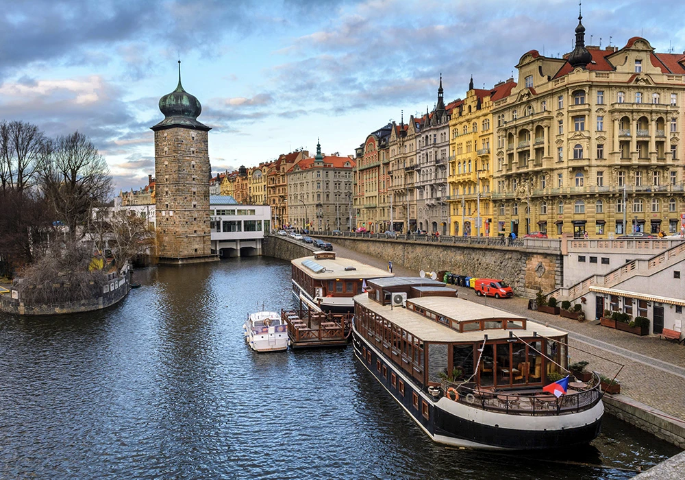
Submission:
{"label": "rippling dark blue river water around the moored boats", "polygon": [[445,448],[351,348],[249,350],[247,313],[293,304],[289,263],[135,276],[105,311],[0,314],[0,478],[625,479],[679,451],[609,416],[569,452]]}

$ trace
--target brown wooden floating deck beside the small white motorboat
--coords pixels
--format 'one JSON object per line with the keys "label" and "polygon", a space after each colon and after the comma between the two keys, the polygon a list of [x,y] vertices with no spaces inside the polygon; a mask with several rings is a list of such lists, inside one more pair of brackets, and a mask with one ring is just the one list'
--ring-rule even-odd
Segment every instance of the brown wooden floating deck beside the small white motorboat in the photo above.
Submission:
{"label": "brown wooden floating deck beside the small white motorboat", "polygon": [[292,348],[346,346],[352,328],[352,314],[313,312],[308,309],[282,310]]}

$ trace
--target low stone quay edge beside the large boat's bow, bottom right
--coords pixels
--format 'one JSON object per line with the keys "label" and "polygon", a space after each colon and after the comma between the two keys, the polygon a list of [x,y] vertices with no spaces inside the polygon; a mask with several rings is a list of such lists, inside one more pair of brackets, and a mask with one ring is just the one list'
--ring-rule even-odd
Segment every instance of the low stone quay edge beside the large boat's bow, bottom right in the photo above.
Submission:
{"label": "low stone quay edge beside the large boat's bow, bottom right", "polygon": [[671,418],[625,395],[605,395],[604,409],[614,417],[647,431],[662,440],[685,448],[685,422]]}

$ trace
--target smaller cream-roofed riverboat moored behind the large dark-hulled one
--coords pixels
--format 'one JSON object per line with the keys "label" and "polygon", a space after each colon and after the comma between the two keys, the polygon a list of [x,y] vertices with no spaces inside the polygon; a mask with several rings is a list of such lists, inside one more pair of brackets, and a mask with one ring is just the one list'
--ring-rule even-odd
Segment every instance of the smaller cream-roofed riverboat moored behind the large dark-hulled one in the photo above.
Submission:
{"label": "smaller cream-roofed riverboat moored behind the large dark-hulled one", "polygon": [[356,260],[338,258],[336,252],[314,252],[291,265],[292,294],[308,309],[325,313],[352,313],[353,297],[362,293],[366,280],[394,276]]}

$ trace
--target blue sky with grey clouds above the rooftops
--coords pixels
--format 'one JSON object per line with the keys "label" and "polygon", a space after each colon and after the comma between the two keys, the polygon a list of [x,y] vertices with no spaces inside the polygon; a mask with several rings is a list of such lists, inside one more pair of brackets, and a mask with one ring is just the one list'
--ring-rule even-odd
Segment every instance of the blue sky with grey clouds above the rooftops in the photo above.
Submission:
{"label": "blue sky with grey clouds above the rooftops", "polygon": [[[154,173],[162,95],[182,83],[212,127],[212,171],[294,149],[354,154],[366,136],[490,88],[531,49],[573,49],[566,0],[0,0],[0,119],[82,131],[116,193]],[[586,1],[586,44],[685,50],[681,1]],[[514,79],[516,80],[516,79]]]}

